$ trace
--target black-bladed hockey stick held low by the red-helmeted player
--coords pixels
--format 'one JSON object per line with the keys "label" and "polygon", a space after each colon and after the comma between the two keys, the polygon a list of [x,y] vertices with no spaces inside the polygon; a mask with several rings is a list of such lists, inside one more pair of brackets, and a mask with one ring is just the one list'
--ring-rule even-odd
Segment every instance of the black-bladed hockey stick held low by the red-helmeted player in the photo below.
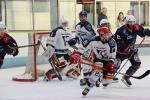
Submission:
{"label": "black-bladed hockey stick held low by the red-helmeted player", "polygon": [[[87,64],[87,65],[90,65],[90,66],[94,66],[94,67],[97,67],[96,70],[107,70],[103,67],[100,67],[100,66],[95,66],[94,64],[91,64],[91,63],[85,63],[85,62],[82,62],[82,64]],[[146,70],[142,75],[140,76],[132,76],[132,75],[127,75],[125,73],[121,73],[121,72],[118,72],[118,74],[120,75],[124,75],[124,76],[129,76],[129,77],[132,77],[134,79],[143,79],[144,77],[148,76],[150,74],[150,70]]]}

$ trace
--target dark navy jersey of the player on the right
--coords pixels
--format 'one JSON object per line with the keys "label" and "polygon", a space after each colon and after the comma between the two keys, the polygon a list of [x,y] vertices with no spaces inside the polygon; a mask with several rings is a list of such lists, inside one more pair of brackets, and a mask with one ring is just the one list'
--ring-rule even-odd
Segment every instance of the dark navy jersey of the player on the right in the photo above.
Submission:
{"label": "dark navy jersey of the player on the right", "polygon": [[117,29],[114,39],[117,43],[117,51],[125,52],[127,48],[134,49],[137,35],[145,37],[150,35],[149,29],[144,29],[141,25],[135,24],[132,30],[126,28],[126,25]]}

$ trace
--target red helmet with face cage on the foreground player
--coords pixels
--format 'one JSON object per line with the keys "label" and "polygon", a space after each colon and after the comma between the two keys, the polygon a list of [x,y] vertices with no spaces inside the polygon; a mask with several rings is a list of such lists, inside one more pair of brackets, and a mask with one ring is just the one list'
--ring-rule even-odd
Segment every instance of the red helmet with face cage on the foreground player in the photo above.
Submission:
{"label": "red helmet with face cage on the foreground player", "polygon": [[97,32],[102,42],[107,42],[112,37],[112,33],[108,27],[99,28]]}

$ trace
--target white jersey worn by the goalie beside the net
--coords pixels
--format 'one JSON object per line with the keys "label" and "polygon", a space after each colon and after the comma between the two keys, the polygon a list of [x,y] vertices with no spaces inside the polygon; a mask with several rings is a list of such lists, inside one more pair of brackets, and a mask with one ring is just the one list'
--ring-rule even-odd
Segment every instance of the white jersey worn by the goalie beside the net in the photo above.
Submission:
{"label": "white jersey worn by the goalie beside the net", "polygon": [[49,37],[49,45],[55,49],[57,54],[67,54],[68,53],[68,40],[72,37],[70,31],[63,27],[58,27],[54,29]]}

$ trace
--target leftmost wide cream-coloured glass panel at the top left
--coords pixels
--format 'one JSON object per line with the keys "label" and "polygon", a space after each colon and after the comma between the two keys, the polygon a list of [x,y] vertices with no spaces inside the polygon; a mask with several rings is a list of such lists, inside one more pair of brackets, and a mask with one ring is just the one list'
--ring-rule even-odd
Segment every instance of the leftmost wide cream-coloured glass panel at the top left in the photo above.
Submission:
{"label": "leftmost wide cream-coloured glass panel at the top left", "polygon": [[7,0],[7,28],[9,30],[32,30],[31,0]]}

